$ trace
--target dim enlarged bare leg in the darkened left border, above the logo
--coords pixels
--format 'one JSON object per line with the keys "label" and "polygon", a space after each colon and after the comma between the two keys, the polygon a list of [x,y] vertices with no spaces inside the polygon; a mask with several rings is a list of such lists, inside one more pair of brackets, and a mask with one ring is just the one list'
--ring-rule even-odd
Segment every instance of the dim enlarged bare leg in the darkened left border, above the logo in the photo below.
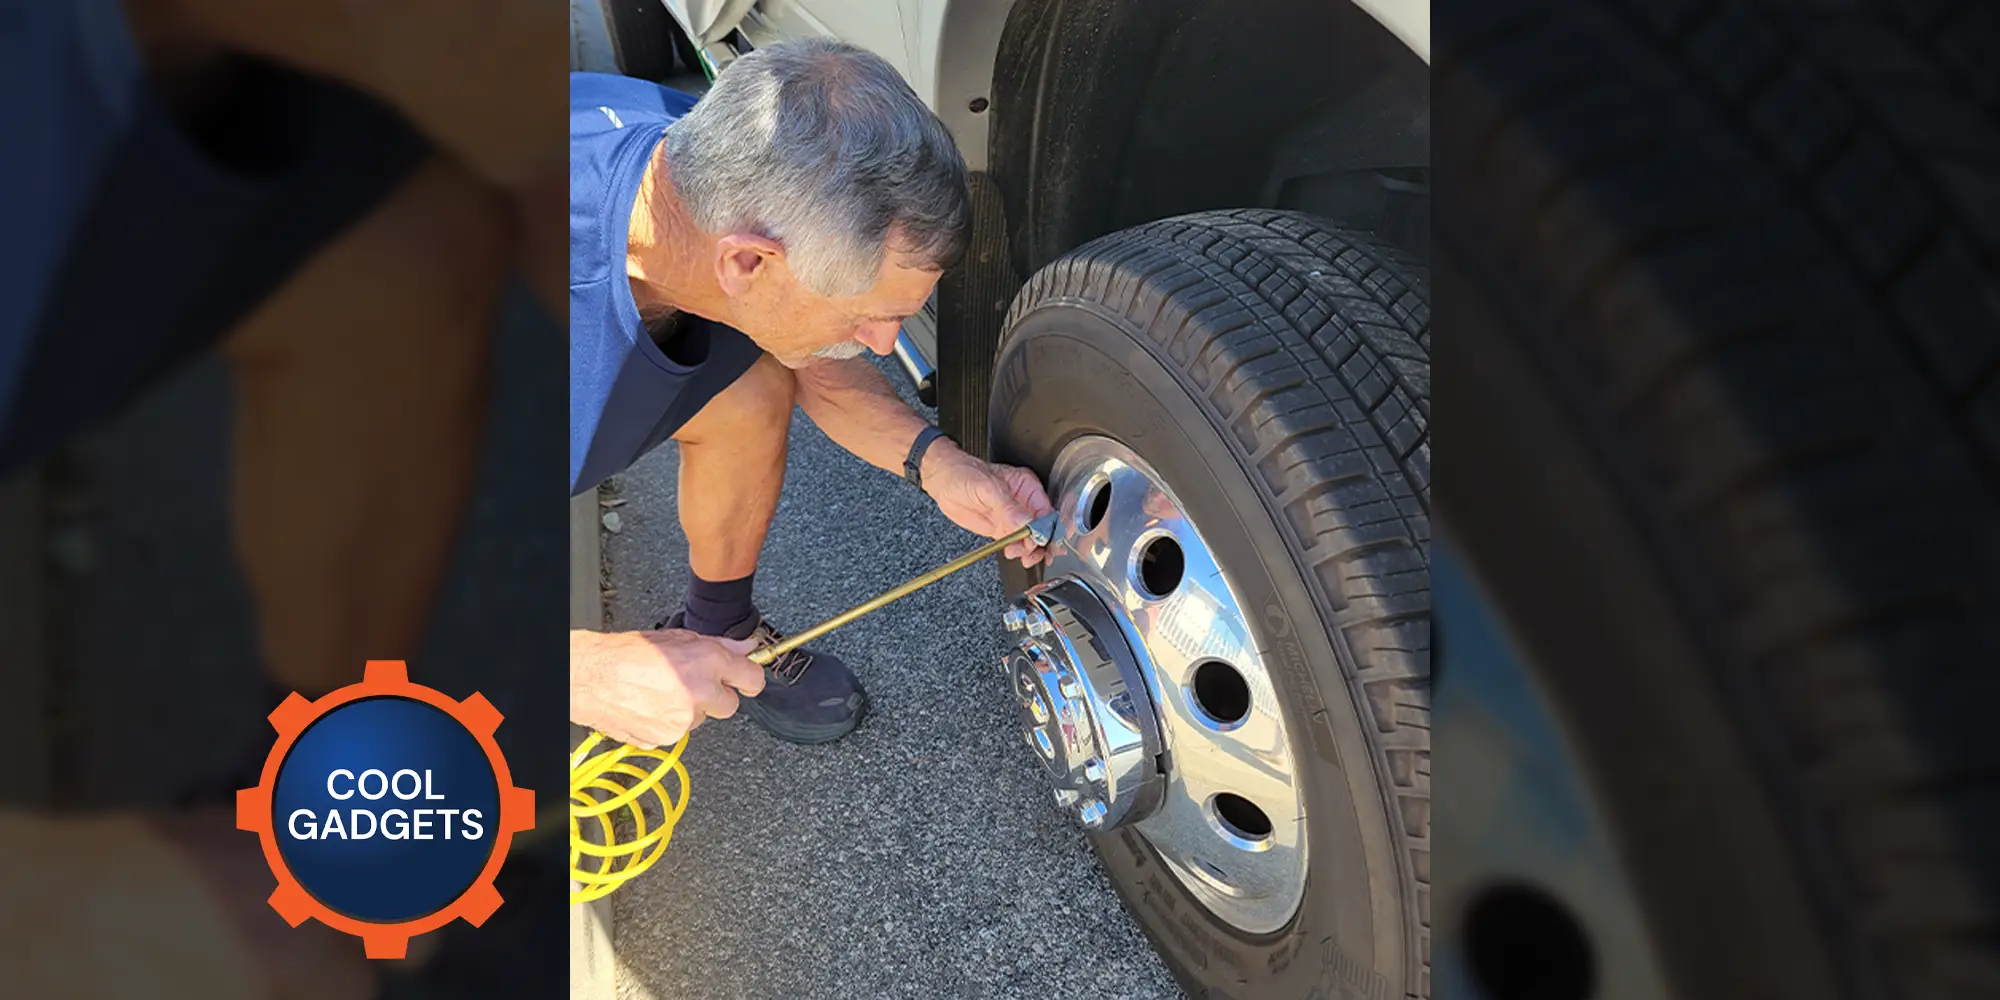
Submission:
{"label": "dim enlarged bare leg in the darkened left border, above the logo", "polygon": [[506,254],[500,202],[432,160],[224,344],[272,680],[324,692],[416,654],[478,460]]}

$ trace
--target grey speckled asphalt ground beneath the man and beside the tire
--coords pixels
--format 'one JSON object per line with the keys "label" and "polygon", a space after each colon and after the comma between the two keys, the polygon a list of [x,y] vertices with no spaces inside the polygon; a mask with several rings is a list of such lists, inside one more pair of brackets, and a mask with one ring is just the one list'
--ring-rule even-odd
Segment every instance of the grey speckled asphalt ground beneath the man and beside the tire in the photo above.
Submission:
{"label": "grey speckled asphalt ground beneath the man and beside the tire", "polygon": [[[650,628],[686,586],[676,458],[606,486],[614,628]],[[804,628],[978,542],[794,414],[758,606]],[[998,608],[984,564],[822,640],[874,702],[836,744],[744,718],[694,732],[674,844],[612,896],[620,998],[1182,996],[1020,742]]]}

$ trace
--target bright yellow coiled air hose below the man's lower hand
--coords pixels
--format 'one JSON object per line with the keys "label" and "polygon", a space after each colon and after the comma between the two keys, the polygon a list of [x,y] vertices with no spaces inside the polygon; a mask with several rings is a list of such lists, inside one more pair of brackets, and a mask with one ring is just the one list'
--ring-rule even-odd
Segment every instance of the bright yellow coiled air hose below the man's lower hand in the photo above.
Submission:
{"label": "bright yellow coiled air hose below the man's lower hand", "polygon": [[[604,898],[652,868],[688,810],[688,768],[680,762],[686,734],[664,750],[614,746],[592,756],[602,742],[608,738],[592,732],[570,752],[570,878],[580,884],[570,890],[572,904]],[[680,778],[678,794],[668,794],[668,776]],[[630,840],[620,842],[622,828]]]}

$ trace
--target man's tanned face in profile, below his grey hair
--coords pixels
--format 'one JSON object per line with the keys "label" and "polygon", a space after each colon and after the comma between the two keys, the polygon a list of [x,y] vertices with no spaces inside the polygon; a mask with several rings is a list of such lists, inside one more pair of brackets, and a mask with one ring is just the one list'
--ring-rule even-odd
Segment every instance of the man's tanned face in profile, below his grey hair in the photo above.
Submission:
{"label": "man's tanned face in profile, below his grey hair", "polygon": [[732,324],[786,368],[806,368],[864,350],[890,354],[902,322],[924,308],[940,272],[916,266],[898,250],[882,254],[874,288],[858,296],[822,296],[790,270],[784,252],[722,246],[722,288]]}

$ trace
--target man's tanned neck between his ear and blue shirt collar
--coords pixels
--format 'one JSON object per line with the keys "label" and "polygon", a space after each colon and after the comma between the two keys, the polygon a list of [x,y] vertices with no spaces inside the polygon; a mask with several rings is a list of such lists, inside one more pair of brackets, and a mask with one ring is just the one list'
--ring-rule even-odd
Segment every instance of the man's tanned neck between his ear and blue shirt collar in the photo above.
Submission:
{"label": "man's tanned neck between his ear and blue shirt collar", "polygon": [[666,168],[666,144],[654,148],[646,180],[632,200],[626,234],[626,278],[640,316],[672,312],[728,322],[728,298],[716,284],[714,240],[688,218]]}

